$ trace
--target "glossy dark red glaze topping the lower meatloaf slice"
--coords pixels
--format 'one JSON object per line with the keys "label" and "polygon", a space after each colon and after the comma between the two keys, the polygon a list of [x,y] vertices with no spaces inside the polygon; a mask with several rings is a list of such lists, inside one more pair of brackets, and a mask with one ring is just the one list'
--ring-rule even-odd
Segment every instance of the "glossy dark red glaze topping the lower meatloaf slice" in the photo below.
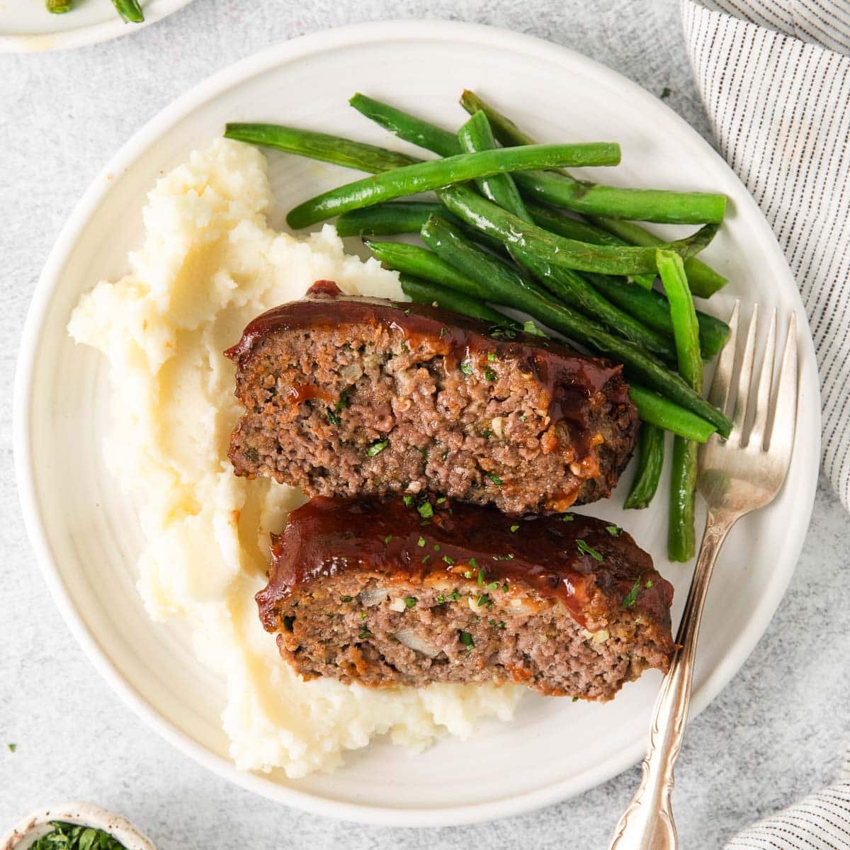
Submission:
{"label": "glossy dark red glaze topping the lower meatloaf slice", "polygon": [[[422,516],[430,511],[433,516]],[[386,575],[388,581],[443,575],[458,587],[472,583],[481,592],[494,592],[486,587],[491,581],[499,583],[495,592],[502,592],[506,581],[509,589],[521,581],[543,597],[560,599],[581,624],[592,601],[618,608],[631,593],[635,610],[662,624],[670,621],[672,586],[655,571],[649,554],[625,531],[579,513],[518,518],[493,507],[437,504],[433,496],[411,505],[400,497],[317,496],[290,514],[271,551],[269,585],[257,594],[260,617],[270,631],[276,628],[280,599],[347,570]],[[594,588],[604,594],[601,603]]]}

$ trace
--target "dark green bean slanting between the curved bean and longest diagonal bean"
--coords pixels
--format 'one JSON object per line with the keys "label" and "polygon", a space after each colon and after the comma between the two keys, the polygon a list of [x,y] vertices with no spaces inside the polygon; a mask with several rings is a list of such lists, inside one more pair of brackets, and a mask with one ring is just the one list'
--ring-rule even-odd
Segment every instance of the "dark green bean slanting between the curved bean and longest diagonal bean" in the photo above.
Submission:
{"label": "dark green bean slanting between the curved bean and longest diagonal bean", "polygon": [[[479,113],[480,114],[480,113]],[[676,362],[676,348],[669,339],[643,326],[631,315],[616,307],[600,295],[581,275],[570,269],[560,269],[551,263],[539,261],[531,252],[521,248],[511,249],[512,255],[522,263],[549,292],[580,313],[596,319],[609,331],[646,348],[668,363]]]}

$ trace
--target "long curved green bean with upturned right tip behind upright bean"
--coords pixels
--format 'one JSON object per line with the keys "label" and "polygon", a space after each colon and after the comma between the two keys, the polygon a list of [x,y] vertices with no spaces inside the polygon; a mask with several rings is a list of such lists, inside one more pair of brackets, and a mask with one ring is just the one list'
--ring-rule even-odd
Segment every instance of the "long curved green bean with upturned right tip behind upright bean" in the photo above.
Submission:
{"label": "long curved green bean with upturned right tip behind upright bean", "polygon": [[[470,154],[468,156],[481,156]],[[466,186],[450,186],[437,193],[457,218],[508,246],[533,252],[541,260],[555,266],[578,271],[595,271],[604,275],[640,275],[655,271],[655,249],[590,245],[549,233],[536,224],[524,222],[476,195]],[[694,235],[668,247],[685,256],[701,251],[717,233],[717,224],[706,224]]]}

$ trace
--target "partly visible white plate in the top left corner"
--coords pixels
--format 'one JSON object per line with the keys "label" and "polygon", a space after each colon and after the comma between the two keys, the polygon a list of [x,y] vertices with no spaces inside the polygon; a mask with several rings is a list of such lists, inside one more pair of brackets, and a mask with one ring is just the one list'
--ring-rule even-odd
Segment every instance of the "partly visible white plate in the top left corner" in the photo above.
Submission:
{"label": "partly visible white plate in the top left corner", "polygon": [[0,54],[79,48],[135,32],[191,0],[140,0],[143,24],[126,24],[110,0],[76,0],[65,14],[49,14],[43,0],[0,0]]}

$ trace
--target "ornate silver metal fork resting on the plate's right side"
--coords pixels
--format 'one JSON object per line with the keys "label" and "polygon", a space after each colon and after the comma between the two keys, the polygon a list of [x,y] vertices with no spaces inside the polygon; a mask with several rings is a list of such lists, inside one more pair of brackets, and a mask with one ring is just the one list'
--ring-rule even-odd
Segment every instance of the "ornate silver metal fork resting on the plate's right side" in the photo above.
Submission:
{"label": "ornate silver metal fork resting on the plate's right side", "polygon": [[[736,303],[729,320],[728,343],[720,355],[709,393],[711,404],[724,412],[734,404],[732,433],[726,440],[715,434],[700,450],[697,489],[708,504],[706,531],[676,638],[679,649],[655,701],[643,777],[614,831],[609,850],[678,847],[671,804],[673,767],[688,717],[696,642],[711,570],[729,530],[745,513],[773,500],[791,463],[797,405],[796,317],[791,315],[779,384],[771,399],[776,355],[774,310],[756,398],[751,400],[758,305],[753,309],[737,388],[732,394],[739,312],[740,303]],[[752,423],[749,429],[748,422]]]}

